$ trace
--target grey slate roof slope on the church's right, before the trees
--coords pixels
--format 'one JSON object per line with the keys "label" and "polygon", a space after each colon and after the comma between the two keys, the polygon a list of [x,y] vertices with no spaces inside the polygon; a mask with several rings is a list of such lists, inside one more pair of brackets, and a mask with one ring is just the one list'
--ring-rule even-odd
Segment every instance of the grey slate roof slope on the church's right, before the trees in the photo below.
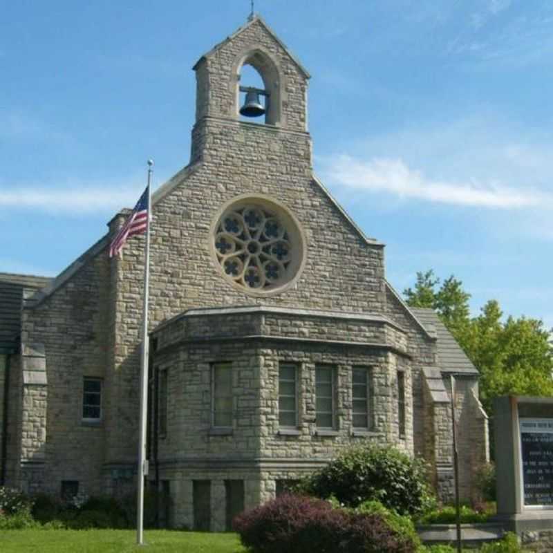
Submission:
{"label": "grey slate roof slope on the church's right, before the trees", "polygon": [[472,364],[456,339],[453,338],[451,332],[447,330],[440,317],[438,317],[438,313],[429,308],[410,307],[409,310],[427,327],[427,330],[435,329],[438,335],[438,343],[436,344],[438,348],[438,364],[442,372],[478,374],[478,369]]}

